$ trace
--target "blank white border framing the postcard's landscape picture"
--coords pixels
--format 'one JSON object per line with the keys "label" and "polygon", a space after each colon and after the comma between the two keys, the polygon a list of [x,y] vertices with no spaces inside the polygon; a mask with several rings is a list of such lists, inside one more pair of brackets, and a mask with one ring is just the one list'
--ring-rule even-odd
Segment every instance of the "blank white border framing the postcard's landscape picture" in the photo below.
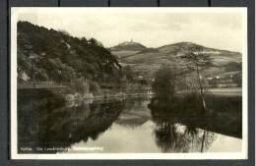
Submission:
{"label": "blank white border framing the postcard's landscape picture", "polygon": [[[75,9],[75,10],[74,10]],[[17,151],[17,21],[21,13],[241,13],[242,14],[242,151],[216,153],[80,153],[18,154]],[[12,159],[247,159],[247,8],[11,8],[11,157]]]}

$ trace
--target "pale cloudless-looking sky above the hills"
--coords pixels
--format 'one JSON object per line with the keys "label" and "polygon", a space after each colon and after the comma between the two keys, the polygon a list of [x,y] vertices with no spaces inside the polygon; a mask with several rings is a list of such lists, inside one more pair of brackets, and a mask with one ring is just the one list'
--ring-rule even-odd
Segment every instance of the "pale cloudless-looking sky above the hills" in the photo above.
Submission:
{"label": "pale cloudless-looking sky above the hills", "polygon": [[18,20],[44,28],[65,29],[77,37],[94,37],[105,47],[133,39],[147,47],[187,41],[211,48],[242,51],[242,15],[237,12],[46,9],[23,11]]}

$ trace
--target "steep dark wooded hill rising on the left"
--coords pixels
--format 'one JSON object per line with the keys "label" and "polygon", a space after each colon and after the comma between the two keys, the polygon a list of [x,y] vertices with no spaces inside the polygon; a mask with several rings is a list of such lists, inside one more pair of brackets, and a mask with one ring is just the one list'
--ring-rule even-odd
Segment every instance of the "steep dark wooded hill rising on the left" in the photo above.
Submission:
{"label": "steep dark wooded hill rising on the left", "polygon": [[95,38],[78,38],[65,30],[29,22],[19,22],[17,26],[18,83],[70,84],[87,80],[94,88],[121,80],[116,56]]}

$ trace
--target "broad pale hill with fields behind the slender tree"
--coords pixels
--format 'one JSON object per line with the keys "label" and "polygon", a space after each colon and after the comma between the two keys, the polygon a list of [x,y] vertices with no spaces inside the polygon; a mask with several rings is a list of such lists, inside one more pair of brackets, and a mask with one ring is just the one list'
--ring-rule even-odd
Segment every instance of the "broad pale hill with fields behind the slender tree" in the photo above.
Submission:
{"label": "broad pale hill with fields behind the slender tree", "polygon": [[[162,65],[177,65],[182,67],[184,62],[181,57],[193,46],[199,45],[192,42],[178,42],[159,48],[147,48],[134,54],[119,55],[119,62],[124,66],[129,65],[145,79],[153,79],[154,73],[160,69]],[[202,47],[204,54],[211,54],[214,62],[211,70],[206,71],[206,77],[216,77],[225,72],[239,71],[239,73],[241,73],[241,53],[208,48],[205,46]],[[121,54],[122,52],[124,52],[124,50],[120,50],[119,52],[114,51],[113,53]]]}

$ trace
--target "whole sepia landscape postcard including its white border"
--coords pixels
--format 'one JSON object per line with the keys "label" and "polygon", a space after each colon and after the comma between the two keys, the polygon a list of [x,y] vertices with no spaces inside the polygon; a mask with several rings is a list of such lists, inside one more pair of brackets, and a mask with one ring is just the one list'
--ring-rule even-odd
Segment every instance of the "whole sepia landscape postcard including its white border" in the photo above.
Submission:
{"label": "whole sepia landscape postcard including its white border", "polygon": [[12,159],[246,159],[246,8],[12,8]]}

